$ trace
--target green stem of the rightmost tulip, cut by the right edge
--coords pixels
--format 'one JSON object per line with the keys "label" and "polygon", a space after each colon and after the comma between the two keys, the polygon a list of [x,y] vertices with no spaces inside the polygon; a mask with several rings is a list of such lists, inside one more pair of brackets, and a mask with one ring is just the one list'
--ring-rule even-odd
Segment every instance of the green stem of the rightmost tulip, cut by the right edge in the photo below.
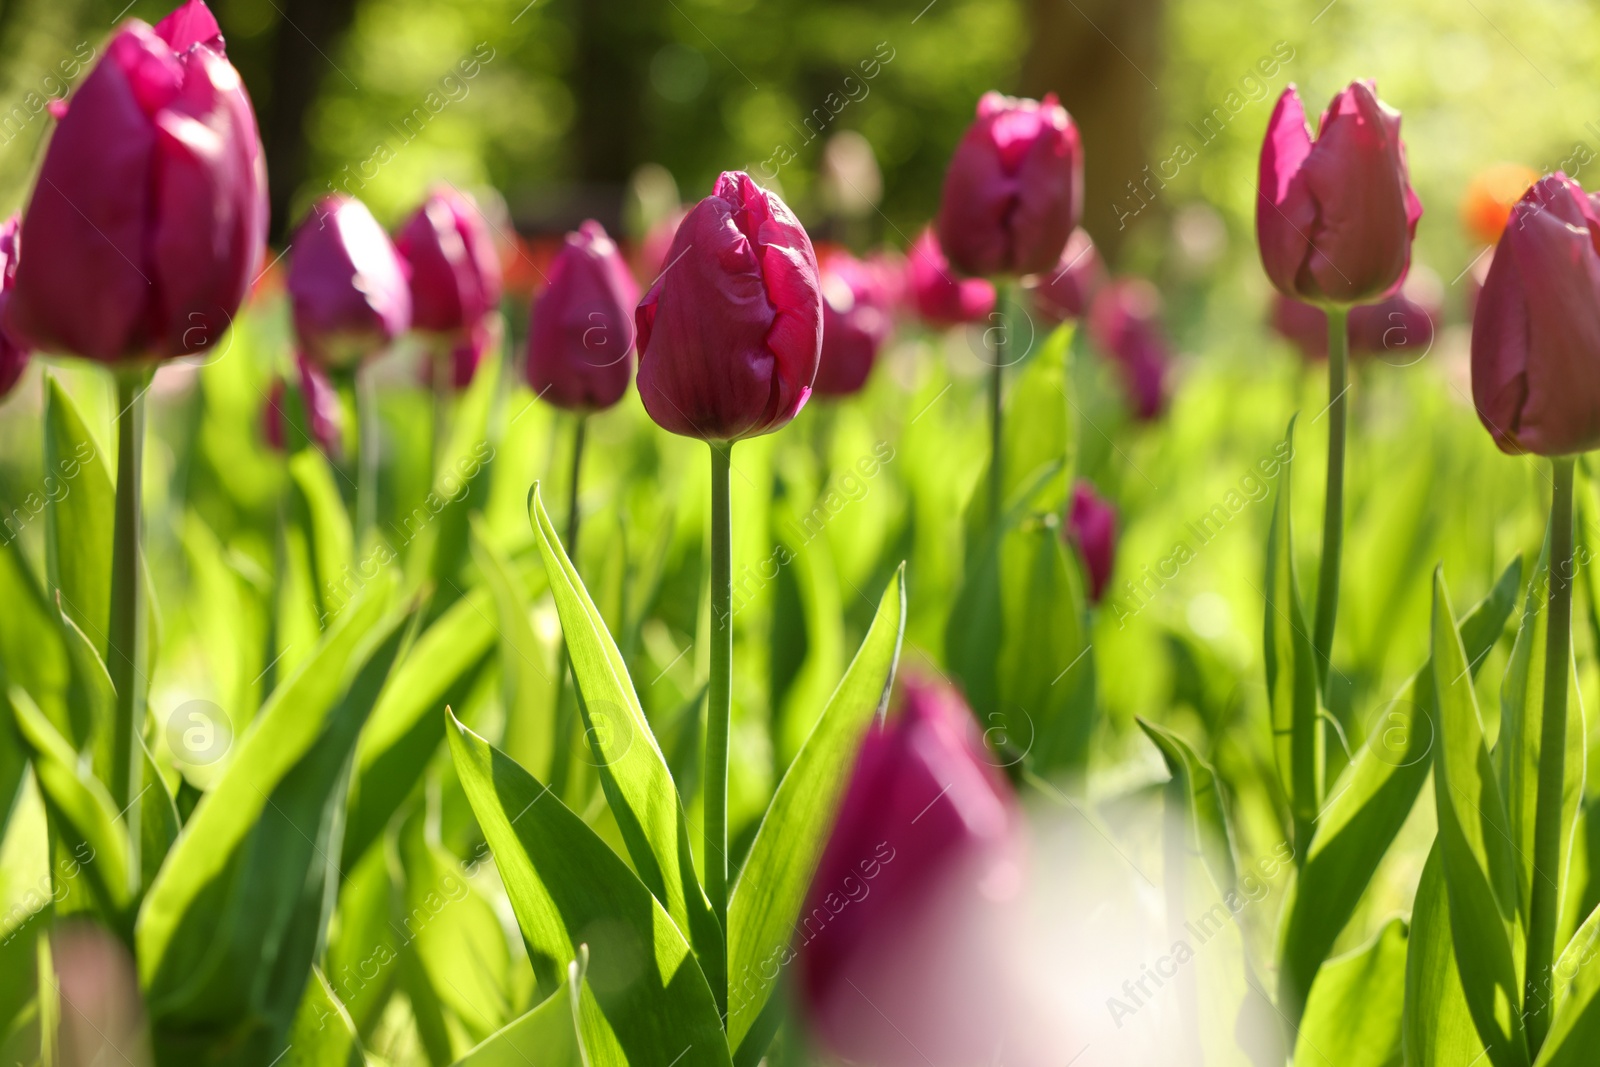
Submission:
{"label": "green stem of the rightmost tulip, cut by the right edge", "polygon": [[1533,824],[1528,901],[1525,1025],[1538,1053],[1550,1030],[1555,926],[1562,913],[1562,793],[1566,789],[1566,683],[1573,621],[1573,456],[1550,461],[1550,616],[1544,643],[1544,717],[1539,723],[1539,795]]}

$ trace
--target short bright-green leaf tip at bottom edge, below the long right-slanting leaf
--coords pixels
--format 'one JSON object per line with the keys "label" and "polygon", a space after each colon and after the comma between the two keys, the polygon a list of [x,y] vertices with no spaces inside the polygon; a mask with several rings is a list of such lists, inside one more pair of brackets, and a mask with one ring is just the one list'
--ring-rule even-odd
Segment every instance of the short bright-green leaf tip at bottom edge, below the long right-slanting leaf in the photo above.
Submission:
{"label": "short bright-green leaf tip at bottom edge, below the long right-slanting leaf", "polygon": [[1370,942],[1328,960],[1294,1040],[1296,1067],[1400,1067],[1406,925],[1390,918]]}

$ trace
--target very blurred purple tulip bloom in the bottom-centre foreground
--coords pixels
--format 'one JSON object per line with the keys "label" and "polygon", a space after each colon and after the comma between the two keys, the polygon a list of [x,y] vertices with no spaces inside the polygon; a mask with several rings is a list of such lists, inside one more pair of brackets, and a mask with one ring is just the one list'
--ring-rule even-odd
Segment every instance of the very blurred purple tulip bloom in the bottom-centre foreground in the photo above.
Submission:
{"label": "very blurred purple tulip bloom in the bottom-centre foreground", "polygon": [[1021,816],[973,713],[954,689],[906,683],[861,747],[795,931],[816,1035],[878,1067],[994,1062],[1000,928],[1021,889]]}

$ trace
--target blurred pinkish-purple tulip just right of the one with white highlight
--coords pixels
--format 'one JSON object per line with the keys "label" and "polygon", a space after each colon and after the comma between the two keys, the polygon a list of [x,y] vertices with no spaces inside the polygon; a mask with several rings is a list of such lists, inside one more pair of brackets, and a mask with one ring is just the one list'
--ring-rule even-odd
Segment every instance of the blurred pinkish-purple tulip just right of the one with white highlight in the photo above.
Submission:
{"label": "blurred pinkish-purple tulip just right of the one with white highlight", "polygon": [[440,186],[395,238],[411,269],[411,328],[461,339],[499,307],[494,237],[472,200]]}

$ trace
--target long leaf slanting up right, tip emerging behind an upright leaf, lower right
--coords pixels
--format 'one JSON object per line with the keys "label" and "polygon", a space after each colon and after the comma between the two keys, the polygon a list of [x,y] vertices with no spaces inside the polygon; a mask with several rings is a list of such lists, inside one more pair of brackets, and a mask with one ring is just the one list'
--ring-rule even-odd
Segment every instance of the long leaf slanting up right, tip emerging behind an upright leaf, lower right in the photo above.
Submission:
{"label": "long leaf slanting up right, tip emerging behind an upright leaf, lower right", "polygon": [[[1461,622],[1461,643],[1474,677],[1506,632],[1520,582],[1518,557]],[[1427,782],[1437,733],[1432,712],[1434,667],[1429,661],[1382,709],[1323,805],[1280,937],[1278,1006],[1290,1017],[1299,1017],[1317,968],[1355,913]]]}

